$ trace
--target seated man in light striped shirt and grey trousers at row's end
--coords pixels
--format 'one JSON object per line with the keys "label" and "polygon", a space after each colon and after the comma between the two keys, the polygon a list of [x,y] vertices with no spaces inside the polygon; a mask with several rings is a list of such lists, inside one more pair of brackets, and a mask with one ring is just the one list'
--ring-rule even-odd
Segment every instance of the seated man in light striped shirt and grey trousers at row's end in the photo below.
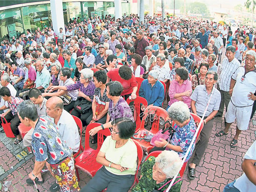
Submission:
{"label": "seated man in light striped shirt and grey trousers at row's end", "polygon": [[194,158],[188,165],[188,178],[195,179],[196,165],[199,165],[200,160],[209,142],[209,137],[213,127],[214,116],[217,114],[221,102],[220,92],[214,88],[214,84],[218,80],[218,75],[214,71],[209,71],[205,77],[205,84],[199,85],[191,95],[191,111],[202,117],[204,110],[209,102],[208,109],[204,116],[204,127],[200,134],[200,141],[194,151]]}

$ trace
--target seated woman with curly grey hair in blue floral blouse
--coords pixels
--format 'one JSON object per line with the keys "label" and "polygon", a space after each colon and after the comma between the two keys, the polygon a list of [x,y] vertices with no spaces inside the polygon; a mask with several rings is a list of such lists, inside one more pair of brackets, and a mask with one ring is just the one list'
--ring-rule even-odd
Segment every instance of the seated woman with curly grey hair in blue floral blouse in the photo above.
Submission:
{"label": "seated woman with curly grey hair in blue floral blouse", "polygon": [[[170,119],[175,123],[173,128],[176,132],[174,133],[172,139],[168,138],[167,141],[164,139],[155,141],[156,147],[154,147],[151,152],[158,150],[173,150],[178,152],[180,158],[183,158],[196,133],[196,123],[193,117],[190,115],[187,105],[182,101],[173,103],[168,109],[168,115]],[[188,153],[185,162],[189,160],[194,149],[195,141]]]}

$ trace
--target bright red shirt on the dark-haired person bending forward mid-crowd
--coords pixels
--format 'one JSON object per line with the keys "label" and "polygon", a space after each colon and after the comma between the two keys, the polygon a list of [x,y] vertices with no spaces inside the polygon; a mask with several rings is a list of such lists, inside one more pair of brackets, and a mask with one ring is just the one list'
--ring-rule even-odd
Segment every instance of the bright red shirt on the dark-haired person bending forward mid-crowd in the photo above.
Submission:
{"label": "bright red shirt on the dark-haired person bending forward mid-crowd", "polygon": [[138,83],[136,81],[136,78],[134,74],[132,74],[132,78],[129,80],[124,80],[120,77],[117,69],[110,70],[106,75],[112,80],[112,81],[119,81],[123,86],[123,92],[121,93],[121,96],[128,95],[133,92],[133,88],[138,86]]}

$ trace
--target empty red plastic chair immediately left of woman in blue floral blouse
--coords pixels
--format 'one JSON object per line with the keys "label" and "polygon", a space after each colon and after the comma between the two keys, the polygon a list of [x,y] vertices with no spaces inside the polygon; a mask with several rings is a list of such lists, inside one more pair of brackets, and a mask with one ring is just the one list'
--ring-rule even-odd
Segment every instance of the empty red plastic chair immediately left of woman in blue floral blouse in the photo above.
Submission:
{"label": "empty red plastic chair immediately left of woman in blue floral blouse", "polygon": [[[145,130],[144,125],[145,125],[145,120],[147,119],[148,116],[154,115],[154,119],[152,122],[152,127],[150,131]],[[159,106],[147,106],[143,113],[143,118],[141,121],[140,129],[137,132],[136,138],[140,138],[140,135],[144,132],[150,132],[151,134],[156,134],[159,131],[159,124],[160,124],[160,117],[162,120],[165,122],[168,118],[168,113],[166,110],[160,108]],[[151,117],[149,117],[151,118]],[[152,148],[154,147],[153,145],[150,144],[150,142],[145,141],[144,139],[142,140],[137,140],[136,141],[142,146],[142,149],[148,153]]]}

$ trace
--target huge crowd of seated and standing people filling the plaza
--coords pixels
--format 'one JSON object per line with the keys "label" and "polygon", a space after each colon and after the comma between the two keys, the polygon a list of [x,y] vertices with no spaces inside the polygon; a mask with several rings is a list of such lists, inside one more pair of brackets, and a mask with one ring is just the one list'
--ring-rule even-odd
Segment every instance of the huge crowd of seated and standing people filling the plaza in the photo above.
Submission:
{"label": "huge crowd of seated and standing people filling the plaza", "polygon": [[[156,141],[153,151],[163,152],[144,162],[132,191],[164,191],[182,166],[190,144],[186,161],[194,156],[188,177],[195,179],[214,118],[223,114],[225,129],[216,136],[227,135],[237,120],[230,147],[239,147],[239,134],[248,129],[256,108],[255,30],[240,26],[232,31],[201,19],[148,15],[144,19],[139,22],[134,14],[116,22],[110,15],[78,17],[59,31],[27,29],[26,34],[1,42],[0,113],[17,136],[14,144],[23,140],[25,146],[33,147],[35,165],[27,183],[44,183],[40,171],[46,164],[56,179],[51,191],[80,190],[73,155],[81,138],[74,115],[82,121],[82,135],[90,123],[101,123],[89,132],[92,144],[97,143],[100,130],[111,129],[96,158],[103,167],[81,191],[129,190],[137,150],[131,139],[135,119],[126,100],[137,96],[159,107],[166,100],[164,109],[176,132],[172,138]],[[144,80],[139,82],[139,78]],[[191,143],[197,126],[190,113],[203,118],[197,143]],[[32,127],[23,139],[20,123]],[[255,142],[253,146],[250,154],[255,154]],[[227,191],[228,187],[243,191],[242,181],[255,188],[255,155],[245,158],[245,175],[229,184]],[[172,191],[180,191],[181,184],[178,179]]]}

